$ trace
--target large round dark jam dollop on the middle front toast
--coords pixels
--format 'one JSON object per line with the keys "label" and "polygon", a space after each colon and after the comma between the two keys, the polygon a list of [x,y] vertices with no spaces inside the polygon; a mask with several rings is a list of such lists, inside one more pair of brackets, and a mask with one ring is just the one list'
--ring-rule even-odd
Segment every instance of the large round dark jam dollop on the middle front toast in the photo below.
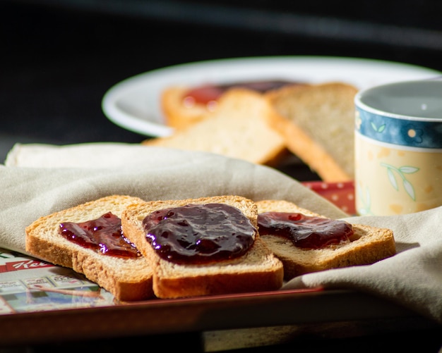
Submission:
{"label": "large round dark jam dollop on the middle front toast", "polygon": [[146,216],[143,226],[158,256],[177,264],[237,258],[249,250],[256,235],[249,218],[227,204],[161,209]]}

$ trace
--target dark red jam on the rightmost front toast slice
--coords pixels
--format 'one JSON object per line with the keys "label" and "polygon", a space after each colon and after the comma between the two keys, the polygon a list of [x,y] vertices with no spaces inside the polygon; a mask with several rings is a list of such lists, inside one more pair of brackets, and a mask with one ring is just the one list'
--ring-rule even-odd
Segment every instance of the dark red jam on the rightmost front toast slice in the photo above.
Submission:
{"label": "dark red jam on the rightmost front toast slice", "polygon": [[354,233],[352,225],[345,221],[288,212],[259,213],[258,228],[261,235],[287,237],[296,247],[305,249],[348,242]]}

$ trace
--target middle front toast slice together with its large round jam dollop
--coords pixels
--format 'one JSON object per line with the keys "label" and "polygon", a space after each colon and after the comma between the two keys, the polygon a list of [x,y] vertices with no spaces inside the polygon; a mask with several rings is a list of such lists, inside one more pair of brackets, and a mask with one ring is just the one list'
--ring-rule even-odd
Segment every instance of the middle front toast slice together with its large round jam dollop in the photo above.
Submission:
{"label": "middle front toast slice together with its large round jam dollop", "polygon": [[141,202],[121,216],[149,259],[160,298],[277,290],[280,260],[257,232],[256,204],[239,196]]}

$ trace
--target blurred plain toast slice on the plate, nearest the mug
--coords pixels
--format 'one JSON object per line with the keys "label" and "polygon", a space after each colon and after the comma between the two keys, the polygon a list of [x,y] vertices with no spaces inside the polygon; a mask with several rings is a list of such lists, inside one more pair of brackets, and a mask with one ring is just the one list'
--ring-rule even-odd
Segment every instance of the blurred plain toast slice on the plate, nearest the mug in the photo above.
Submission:
{"label": "blurred plain toast slice on the plate, nearest the mug", "polygon": [[354,179],[354,96],[342,82],[292,85],[265,95],[270,125],[287,148],[326,182]]}

